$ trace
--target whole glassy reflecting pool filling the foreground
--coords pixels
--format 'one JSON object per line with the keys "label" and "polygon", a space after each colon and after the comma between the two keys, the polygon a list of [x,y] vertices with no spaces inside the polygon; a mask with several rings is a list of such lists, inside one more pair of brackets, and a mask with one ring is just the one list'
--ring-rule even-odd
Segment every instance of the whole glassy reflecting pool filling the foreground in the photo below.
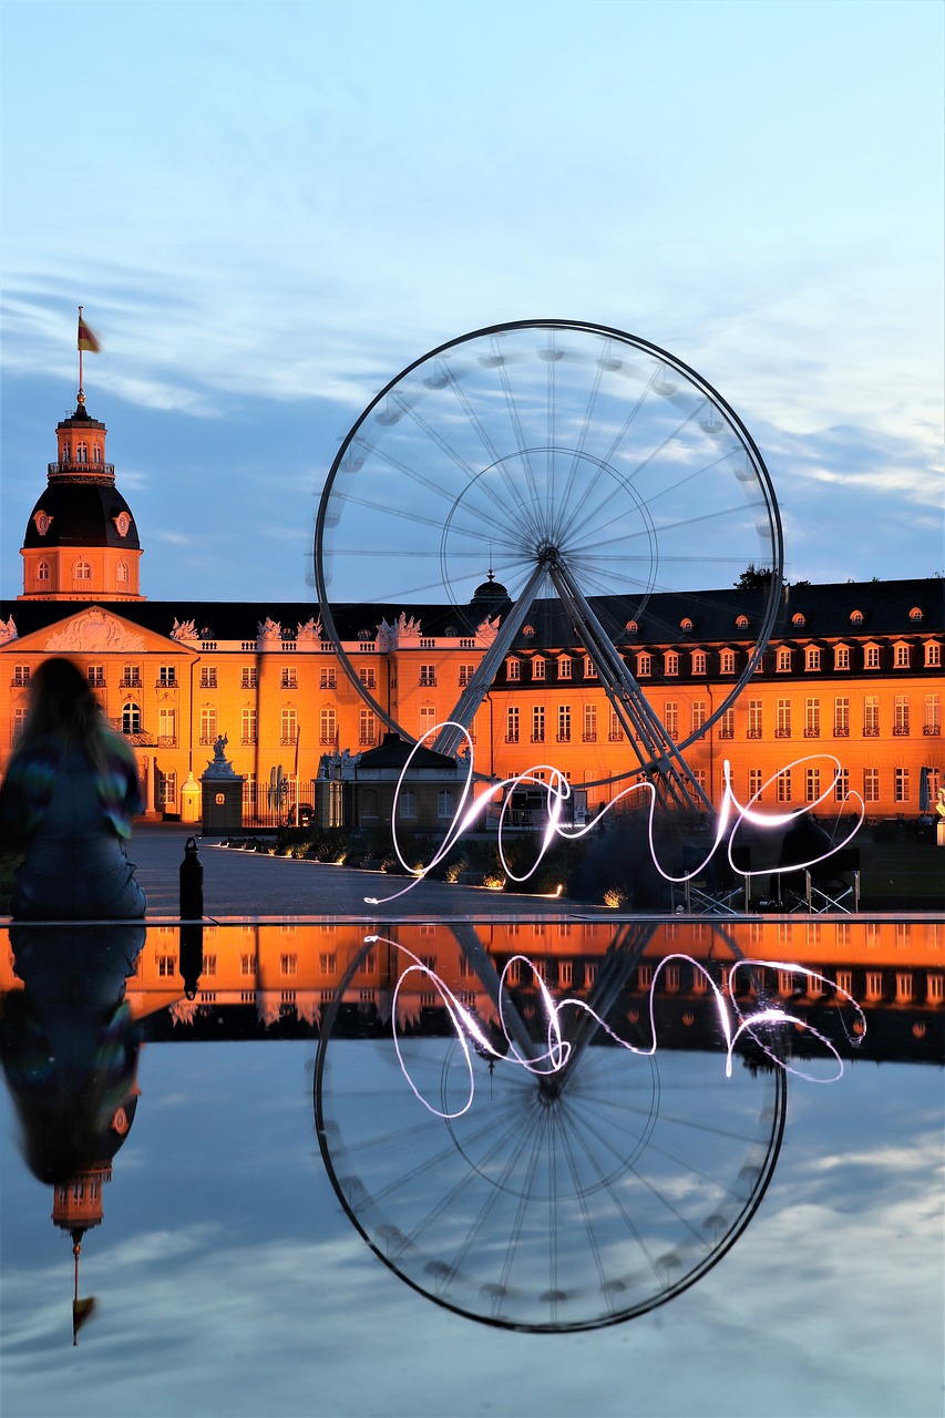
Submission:
{"label": "whole glassy reflecting pool filling the foreground", "polygon": [[944,929],[10,927],[0,1411],[942,1412]]}

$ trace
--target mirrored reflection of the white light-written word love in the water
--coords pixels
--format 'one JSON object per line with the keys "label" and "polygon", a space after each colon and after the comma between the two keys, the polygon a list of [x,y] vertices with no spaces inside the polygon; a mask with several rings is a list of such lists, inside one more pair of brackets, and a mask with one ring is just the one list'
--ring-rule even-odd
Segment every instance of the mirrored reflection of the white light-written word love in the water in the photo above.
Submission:
{"label": "mirrored reflection of the white light-written word love in the water", "polygon": [[[660,973],[674,960],[684,960],[690,966],[692,966],[695,971],[705,976],[705,980],[708,981],[708,986],[712,990],[712,994],[715,997],[715,1010],[718,1021],[722,1029],[722,1035],[725,1038],[726,1078],[732,1076],[732,1055],[742,1034],[748,1034],[749,1038],[752,1038],[753,1042],[772,1059],[772,1062],[775,1062],[779,1068],[785,1069],[786,1073],[793,1073],[796,1078],[806,1079],[810,1083],[836,1083],[843,1078],[843,1059],[840,1058],[840,1054],[830,1042],[830,1039],[819,1029],[813,1028],[813,1025],[810,1025],[806,1020],[802,1020],[793,1014],[788,1014],[788,1011],[782,1010],[780,1005],[765,1005],[761,1010],[756,1010],[753,1014],[742,1012],[738,1001],[735,1000],[735,980],[739,970],[742,971],[751,971],[753,968],[789,970],[795,976],[803,976],[807,980],[816,981],[819,986],[826,986],[826,984],[831,986],[836,990],[837,997],[841,997],[846,1004],[850,1004],[857,1015],[856,1028],[853,1034],[846,1028],[846,1021],[844,1021],[844,1032],[847,1035],[847,1041],[853,1046],[858,1048],[860,1044],[863,1042],[863,1038],[866,1037],[866,1015],[860,1008],[858,1003],[853,998],[851,994],[849,994],[840,986],[833,984],[833,981],[827,980],[826,976],[819,974],[816,970],[807,970],[805,966],[789,964],[788,961],[783,960],[742,959],[734,961],[728,973],[728,981],[725,988],[719,988],[719,986],[708,973],[705,966],[700,964],[698,960],[694,960],[692,956],[671,954],[665,956],[657,964],[657,967],[653,971],[653,981],[650,984],[648,1008],[650,1008],[650,1035],[653,1042],[647,1045],[647,1048],[637,1048],[634,1044],[629,1044],[626,1039],[621,1039],[620,1035],[610,1028],[610,1025],[604,1024],[600,1015],[596,1014],[595,1010],[592,1010],[585,1000],[568,997],[565,1000],[555,1001],[535,963],[529,960],[528,956],[512,956],[507,961],[502,970],[499,978],[499,994],[498,994],[499,1027],[502,1029],[502,1035],[505,1038],[508,1049],[497,1049],[491,1042],[491,1039],[488,1038],[488,1035],[485,1034],[485,1031],[482,1029],[482,1025],[477,1020],[475,1014],[472,1014],[457,998],[457,995],[453,993],[453,990],[450,990],[450,987],[436,973],[436,970],[431,970],[430,966],[424,964],[419,956],[414,956],[411,950],[409,950],[406,946],[399,944],[396,940],[389,940],[385,936],[365,937],[365,944],[375,944],[375,943],[389,946],[390,949],[399,951],[410,961],[410,964],[407,964],[400,971],[400,976],[397,977],[397,984],[394,986],[393,991],[392,1020],[393,1020],[394,1048],[397,1051],[397,1061],[400,1064],[403,1075],[407,1079],[407,1083],[410,1085],[413,1093],[417,1096],[417,1099],[423,1103],[423,1106],[429,1112],[434,1113],[437,1117],[444,1117],[444,1119],[461,1117],[472,1106],[472,1099],[475,1096],[472,1051],[488,1058],[490,1066],[494,1066],[497,1064],[505,1064],[512,1068],[525,1069],[525,1072],[532,1073],[536,1078],[552,1078],[555,1073],[560,1073],[565,1065],[568,1064],[568,1059],[570,1058],[573,1049],[573,1045],[565,1038],[565,1031],[562,1028],[562,1020],[568,1014],[568,1011],[583,1012],[590,1015],[590,1018],[599,1025],[600,1029],[603,1029],[603,1032],[612,1039],[613,1044],[619,1045],[623,1049],[627,1049],[630,1054],[637,1054],[643,1058],[651,1058],[657,1052],[657,1042],[658,1042],[656,1018],[654,1018],[656,986]],[[538,1052],[528,1058],[522,1054],[519,1045],[512,1038],[507,1021],[507,1003],[508,1003],[507,978],[511,967],[516,961],[521,961],[528,970],[531,970],[535,978],[535,984],[538,987],[538,993],[542,1001],[542,1010],[545,1012],[545,1020],[546,1020],[545,1045],[539,1046]],[[400,993],[404,988],[406,981],[410,980],[411,976],[423,977],[427,983],[433,984],[436,991],[440,994],[446,1011],[450,1015],[450,1021],[455,1031],[457,1041],[463,1049],[463,1056],[468,1073],[468,1093],[465,1102],[454,1112],[444,1112],[443,1109],[431,1103],[430,1099],[424,1098],[424,1095],[414,1083],[410,1075],[410,1069],[400,1049],[400,1041],[397,1038],[397,1001]],[[840,1015],[840,1018],[843,1017]],[[797,1028],[806,1029],[816,1039],[819,1039],[819,1042],[827,1049],[827,1052],[833,1056],[837,1065],[837,1071],[831,1078],[817,1078],[813,1073],[807,1073],[803,1069],[796,1068],[793,1064],[788,1064],[779,1054],[776,1054],[769,1046],[765,1038],[761,1037],[758,1032],[759,1029],[772,1031],[783,1028],[786,1025],[796,1025]]]}

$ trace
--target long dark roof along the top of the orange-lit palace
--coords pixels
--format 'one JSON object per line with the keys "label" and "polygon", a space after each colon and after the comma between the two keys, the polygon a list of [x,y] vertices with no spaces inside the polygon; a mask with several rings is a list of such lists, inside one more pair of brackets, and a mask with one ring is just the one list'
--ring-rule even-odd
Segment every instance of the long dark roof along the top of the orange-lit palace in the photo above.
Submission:
{"label": "long dark roof along the top of the orange-lit palace", "polygon": [[[125,539],[128,545],[131,539]],[[763,591],[741,591],[735,588],[715,591],[671,591],[654,593],[643,604],[624,597],[590,597],[590,603],[602,621],[623,647],[630,645],[700,645],[752,638],[763,614]],[[122,615],[159,635],[169,635],[175,620],[193,621],[197,632],[206,640],[254,640],[261,621],[278,621],[289,638],[298,625],[318,620],[315,601],[95,601],[115,615]],[[914,607],[922,611],[921,621],[911,621]],[[0,603],[0,618],[13,617],[20,635],[28,635],[57,621],[74,615],[87,603],[81,601],[17,601]],[[636,610],[636,615],[627,614]],[[863,621],[853,624],[850,615],[860,611]],[[475,631],[481,618],[471,614],[470,607],[421,605],[421,604],[377,604],[359,603],[332,608],[339,635],[345,641],[358,640],[366,630],[373,638],[382,621],[393,625],[404,614],[416,618],[424,635],[465,635]],[[805,617],[803,625],[795,625],[792,617]],[[748,628],[739,630],[736,618],[746,615]],[[692,630],[681,630],[681,621],[690,617]],[[626,631],[627,620],[637,621],[637,632]],[[519,649],[529,647],[575,647],[582,644],[578,628],[572,624],[562,604],[556,600],[535,601],[528,615],[528,624],[535,628],[534,637],[524,632],[515,644]],[[895,635],[918,631],[945,630],[945,580],[927,577],[922,580],[897,581],[843,581],[829,586],[792,586],[782,596],[772,640],[817,640],[820,637]]]}

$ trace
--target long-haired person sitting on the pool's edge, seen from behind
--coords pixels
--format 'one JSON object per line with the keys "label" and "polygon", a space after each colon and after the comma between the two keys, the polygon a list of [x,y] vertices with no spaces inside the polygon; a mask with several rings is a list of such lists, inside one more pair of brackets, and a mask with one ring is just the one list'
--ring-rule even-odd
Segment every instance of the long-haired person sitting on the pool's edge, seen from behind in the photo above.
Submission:
{"label": "long-haired person sitting on the pool's edge, seen from behind", "polygon": [[70,659],[47,659],[0,788],[4,845],[26,852],[10,912],[21,920],[143,916],[145,893],[125,855],[143,807],[138,766],[106,727]]}

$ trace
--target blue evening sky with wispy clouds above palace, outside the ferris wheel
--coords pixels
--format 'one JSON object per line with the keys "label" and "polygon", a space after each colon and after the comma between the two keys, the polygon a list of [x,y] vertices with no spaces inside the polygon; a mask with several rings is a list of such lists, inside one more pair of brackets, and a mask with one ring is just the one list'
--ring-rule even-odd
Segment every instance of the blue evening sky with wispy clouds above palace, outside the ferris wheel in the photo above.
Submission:
{"label": "blue evening sky with wispy clouds above palace, outside the ferris wheel", "polygon": [[312,594],[369,398],[545,316],[721,391],[792,580],[941,571],[942,14],[4,0],[0,591],[78,303],[155,600]]}

